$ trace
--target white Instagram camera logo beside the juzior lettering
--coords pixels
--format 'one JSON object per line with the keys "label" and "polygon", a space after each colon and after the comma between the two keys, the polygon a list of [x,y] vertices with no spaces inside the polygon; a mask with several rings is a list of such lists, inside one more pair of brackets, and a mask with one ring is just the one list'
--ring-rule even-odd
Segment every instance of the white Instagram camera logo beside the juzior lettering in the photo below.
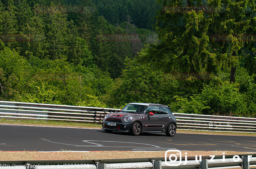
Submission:
{"label": "white Instagram camera logo beside the juzior lettering", "polygon": [[[167,161],[167,154],[169,153],[172,153],[169,156],[169,161]],[[177,159],[178,159],[178,156],[179,155],[179,162],[177,162]],[[172,160],[172,157],[174,158],[174,160]],[[164,161],[165,161],[165,164],[167,166],[179,166],[181,164],[181,152],[180,150],[167,150],[165,151],[164,153]]]}

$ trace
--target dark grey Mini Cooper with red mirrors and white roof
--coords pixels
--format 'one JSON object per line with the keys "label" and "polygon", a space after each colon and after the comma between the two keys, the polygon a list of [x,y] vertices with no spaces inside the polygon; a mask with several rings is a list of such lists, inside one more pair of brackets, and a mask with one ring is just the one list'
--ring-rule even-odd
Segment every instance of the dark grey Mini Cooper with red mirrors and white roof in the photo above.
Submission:
{"label": "dark grey Mini Cooper with red mirrors and white roof", "polygon": [[130,132],[134,136],[142,132],[176,133],[176,119],[168,106],[152,103],[129,103],[120,112],[104,117],[102,130],[106,132]]}

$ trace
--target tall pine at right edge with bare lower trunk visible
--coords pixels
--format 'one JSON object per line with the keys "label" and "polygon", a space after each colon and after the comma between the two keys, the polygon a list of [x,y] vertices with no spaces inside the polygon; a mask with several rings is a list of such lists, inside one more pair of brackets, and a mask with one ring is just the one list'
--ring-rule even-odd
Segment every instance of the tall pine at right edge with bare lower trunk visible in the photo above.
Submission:
{"label": "tall pine at right edge with bare lower trunk visible", "polygon": [[[213,1],[211,5],[214,6],[211,15],[213,52],[231,66],[230,82],[235,82],[236,65],[243,55],[243,48],[248,48],[253,43],[251,40],[253,37],[248,35],[255,33],[255,1],[218,0]],[[253,48],[255,50],[255,47],[251,49]],[[249,53],[245,53],[247,54]]]}

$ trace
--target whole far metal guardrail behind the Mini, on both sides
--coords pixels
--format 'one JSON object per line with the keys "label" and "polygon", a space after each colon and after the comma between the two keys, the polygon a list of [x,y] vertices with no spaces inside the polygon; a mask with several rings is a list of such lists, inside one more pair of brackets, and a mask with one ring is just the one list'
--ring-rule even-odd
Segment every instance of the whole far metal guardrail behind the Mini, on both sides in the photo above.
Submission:
{"label": "whole far metal guardrail behind the Mini, on both sides", "polygon": [[[0,118],[100,123],[119,109],[0,101]],[[256,118],[173,113],[178,129],[256,133]]]}

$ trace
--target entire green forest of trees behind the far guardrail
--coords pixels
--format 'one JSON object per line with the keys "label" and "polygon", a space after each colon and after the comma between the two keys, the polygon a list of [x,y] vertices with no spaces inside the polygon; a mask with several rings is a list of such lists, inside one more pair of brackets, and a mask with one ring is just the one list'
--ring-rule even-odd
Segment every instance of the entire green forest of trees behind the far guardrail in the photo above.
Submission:
{"label": "entire green forest of trees behind the far guardrail", "polygon": [[1,0],[0,12],[2,101],[256,117],[253,0]]}

